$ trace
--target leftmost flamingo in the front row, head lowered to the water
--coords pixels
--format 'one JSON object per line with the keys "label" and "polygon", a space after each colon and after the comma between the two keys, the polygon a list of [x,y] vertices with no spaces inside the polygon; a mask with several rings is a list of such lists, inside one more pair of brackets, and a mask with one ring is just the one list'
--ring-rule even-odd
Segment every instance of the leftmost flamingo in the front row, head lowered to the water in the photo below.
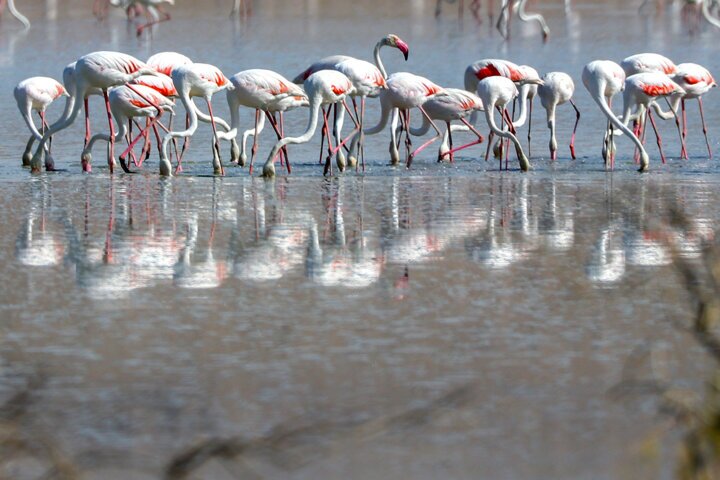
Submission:
{"label": "leftmost flamingo in the front row, head lowered to the water", "polygon": [[[20,114],[22,115],[23,120],[25,120],[25,124],[28,126],[31,133],[30,140],[28,141],[25,152],[22,156],[23,166],[27,167],[30,166],[30,160],[32,158],[31,149],[33,141],[35,139],[42,139],[42,134],[38,131],[32,120],[33,110],[38,112],[38,115],[40,116],[41,129],[44,134],[45,130],[49,128],[48,123],[45,120],[45,110],[47,107],[62,96],[68,97],[68,102],[71,100],[70,95],[67,93],[67,90],[65,90],[65,87],[63,87],[57,80],[49,77],[26,78],[15,86],[13,94],[15,95],[15,101],[20,109]],[[49,152],[47,155],[48,158],[50,158]],[[52,164],[52,160],[49,161]]]}

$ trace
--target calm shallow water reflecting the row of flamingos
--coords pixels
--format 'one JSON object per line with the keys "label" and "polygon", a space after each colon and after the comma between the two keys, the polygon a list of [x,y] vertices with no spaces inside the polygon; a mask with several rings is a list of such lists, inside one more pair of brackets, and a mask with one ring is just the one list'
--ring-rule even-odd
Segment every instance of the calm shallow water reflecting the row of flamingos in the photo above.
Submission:
{"label": "calm shallow water reflecting the row of flamingos", "polygon": [[[688,258],[714,240],[720,175],[694,105],[690,162],[663,125],[667,165],[650,137],[652,172],[636,174],[619,139],[617,171],[604,172],[604,122],[579,73],[591,59],[646,50],[720,72],[720,33],[691,36],[670,7],[639,20],[621,3],[565,12],[548,1],[537,8],[550,42],[516,25],[507,44],[487,18],[459,23],[454,4],[435,20],[434,2],[255,3],[243,22],[227,18],[229,3],[178,6],[141,40],[122,17],[97,23],[86,5],[53,19],[31,4],[29,33],[3,21],[0,81],[59,78],[96,49],[140,58],[172,49],[228,75],[293,76],[325,54],[369,58],[392,31],[411,57],[384,52],[388,68],[442,85],[459,86],[482,57],[570,73],[580,158],[569,159],[574,116],[561,107],[560,159],[547,160],[537,108],[528,174],[483,162],[485,145],[454,165],[428,150],[411,171],[392,170],[382,135],[368,139],[365,176],[323,179],[314,140],[291,147],[291,177],[229,167],[213,178],[201,126],[180,177],[159,179],[154,156],[142,174],[111,177],[101,149],[88,176],[75,125],[53,143],[67,170],[31,177],[20,167],[27,129],[6,88],[0,399],[10,403],[0,432],[19,441],[0,478],[40,478],[59,463],[82,478],[158,478],[211,439],[232,443],[232,458],[192,478],[672,477],[676,436],[645,447],[665,425],[656,399],[613,387],[662,378],[701,388],[706,358],[671,323],[691,309],[664,240]],[[706,100],[715,147],[719,101]],[[306,112],[288,117],[290,131],[304,128]],[[261,161],[271,140],[262,136]],[[676,204],[690,226],[669,234],[666,207]]]}

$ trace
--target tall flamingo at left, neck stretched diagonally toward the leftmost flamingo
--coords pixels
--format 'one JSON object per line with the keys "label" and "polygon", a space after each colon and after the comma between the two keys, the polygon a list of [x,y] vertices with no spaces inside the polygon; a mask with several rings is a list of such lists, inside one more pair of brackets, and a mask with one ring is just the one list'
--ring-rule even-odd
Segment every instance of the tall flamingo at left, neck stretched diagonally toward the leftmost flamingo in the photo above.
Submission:
{"label": "tall flamingo at left, neck stretched diagonally toward the leftmost flamingo", "polygon": [[[84,99],[93,88],[101,89],[103,96],[105,97],[105,109],[107,110],[108,123],[110,125],[110,151],[112,153],[114,144],[113,138],[115,134],[107,90],[108,88],[116,85],[126,84],[144,74],[154,75],[155,70],[149,68],[140,60],[124,53],[93,52],[80,57],[80,59],[75,63],[75,92],[73,92],[73,96],[76,101],[74,102],[73,109],[68,115],[63,115],[60,120],[51,125],[45,132],[45,135],[43,135],[43,138],[40,140],[40,144],[35,150],[35,154],[31,160],[32,171],[40,171],[42,156],[48,139],[60,130],[67,128],[73,121],[75,121],[78,111],[80,110],[80,106],[82,105],[77,100],[81,98]],[[112,169],[113,165],[111,164],[111,172]]]}

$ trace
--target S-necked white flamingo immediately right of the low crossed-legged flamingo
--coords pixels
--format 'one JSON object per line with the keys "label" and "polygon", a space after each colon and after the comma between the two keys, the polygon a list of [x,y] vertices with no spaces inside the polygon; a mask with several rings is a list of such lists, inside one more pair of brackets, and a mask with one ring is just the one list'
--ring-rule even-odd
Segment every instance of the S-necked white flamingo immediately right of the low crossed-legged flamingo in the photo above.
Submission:
{"label": "S-necked white flamingo immediately right of the low crossed-legged flamingo", "polygon": [[172,80],[177,89],[180,101],[185,106],[185,110],[190,114],[190,125],[182,131],[171,131],[165,135],[162,142],[162,150],[160,152],[160,175],[172,175],[170,161],[167,157],[167,145],[170,140],[178,137],[190,137],[197,130],[198,109],[195,107],[191,97],[203,97],[208,105],[210,113],[210,123],[213,129],[213,171],[216,175],[223,175],[222,162],[220,161],[220,146],[218,144],[216,117],[212,112],[212,103],[210,99],[212,95],[224,89],[233,89],[230,81],[215,66],[205,63],[191,63],[181,65],[172,71]]}

